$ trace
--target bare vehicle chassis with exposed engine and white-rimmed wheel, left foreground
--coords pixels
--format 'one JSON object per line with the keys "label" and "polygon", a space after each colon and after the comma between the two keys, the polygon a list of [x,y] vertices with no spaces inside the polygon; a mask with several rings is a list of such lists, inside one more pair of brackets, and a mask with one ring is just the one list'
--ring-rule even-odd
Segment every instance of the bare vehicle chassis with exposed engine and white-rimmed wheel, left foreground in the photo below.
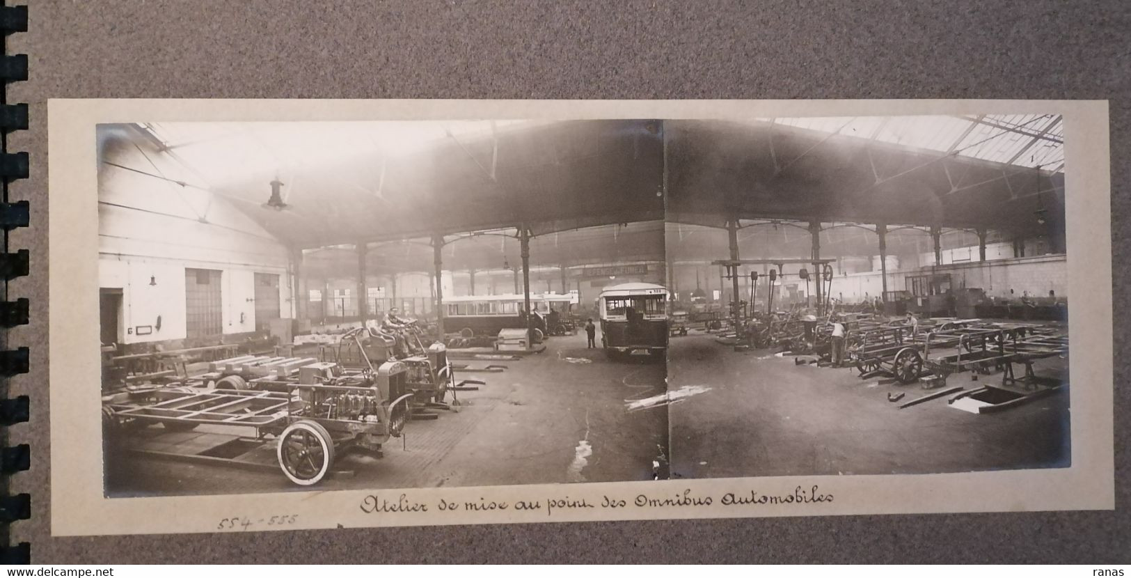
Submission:
{"label": "bare vehicle chassis with exposed engine and white-rimmed wheel, left foreground", "polygon": [[254,442],[276,445],[291,482],[313,485],[337,456],[381,457],[382,445],[400,437],[413,397],[407,377],[408,368],[396,361],[349,373],[312,362],[297,379],[258,380],[256,389],[166,385],[122,391],[103,398],[104,439],[115,445],[127,432],[155,425],[174,433],[201,425],[245,429]]}

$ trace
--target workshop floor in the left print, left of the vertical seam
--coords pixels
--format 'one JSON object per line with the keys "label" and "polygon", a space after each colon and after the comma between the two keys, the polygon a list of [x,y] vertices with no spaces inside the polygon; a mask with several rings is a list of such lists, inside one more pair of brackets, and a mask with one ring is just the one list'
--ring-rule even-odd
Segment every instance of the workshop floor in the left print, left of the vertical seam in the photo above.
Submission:
{"label": "workshop floor in the left print, left of the vertical seam", "polygon": [[[407,449],[394,439],[381,459],[340,459],[336,467],[354,474],[328,476],[314,489],[651,480],[653,460],[662,455],[666,460],[667,414],[663,406],[631,413],[625,407],[664,392],[663,360],[611,362],[602,350],[585,347],[584,334],[553,337],[546,345],[541,354],[498,362],[509,368],[501,373],[457,371],[457,379],[487,382],[458,394],[459,413],[409,422]],[[267,449],[274,455],[273,443]],[[106,471],[112,497],[300,490],[277,465],[243,469],[130,454]]]}

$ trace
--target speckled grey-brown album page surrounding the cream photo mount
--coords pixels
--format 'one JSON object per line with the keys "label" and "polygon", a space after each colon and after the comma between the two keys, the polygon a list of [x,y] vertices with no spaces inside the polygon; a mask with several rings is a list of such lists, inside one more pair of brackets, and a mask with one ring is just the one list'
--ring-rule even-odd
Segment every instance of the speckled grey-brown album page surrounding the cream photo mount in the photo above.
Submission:
{"label": "speckled grey-brown album page surrounding the cream photo mount", "polygon": [[[187,25],[193,23],[193,25]],[[9,37],[29,80],[32,226],[14,247],[33,274],[32,348],[11,381],[32,396],[15,440],[33,467],[33,517],[12,526],[35,562],[1128,562],[1131,428],[1115,422],[1116,510],[852,516],[227,535],[52,538],[46,457],[46,98],[1104,98],[1111,100],[1114,262],[1131,215],[1131,3],[502,2],[269,3],[173,0],[31,2]],[[59,226],[60,224],[54,224]],[[1114,270],[1116,327],[1128,318]],[[1116,331],[1116,415],[1131,407],[1125,331]],[[17,343],[18,342],[18,343]],[[26,490],[25,490],[26,491]],[[942,547],[918,547],[924,543]]]}

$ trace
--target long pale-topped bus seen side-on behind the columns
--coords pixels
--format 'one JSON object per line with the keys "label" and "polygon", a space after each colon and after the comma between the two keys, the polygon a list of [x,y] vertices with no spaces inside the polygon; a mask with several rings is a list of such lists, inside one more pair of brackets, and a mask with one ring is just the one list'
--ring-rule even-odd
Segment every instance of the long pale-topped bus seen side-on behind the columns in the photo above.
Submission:
{"label": "long pale-topped bus seen side-on behind the columns", "polygon": [[[550,330],[547,327],[550,312],[555,317],[569,314],[578,302],[577,293],[532,293],[530,309],[534,311],[534,338],[542,340]],[[500,329],[525,329],[521,316],[526,307],[525,296],[520,294],[506,295],[463,295],[443,299],[444,325],[459,330],[463,337],[476,335],[495,335]]]}

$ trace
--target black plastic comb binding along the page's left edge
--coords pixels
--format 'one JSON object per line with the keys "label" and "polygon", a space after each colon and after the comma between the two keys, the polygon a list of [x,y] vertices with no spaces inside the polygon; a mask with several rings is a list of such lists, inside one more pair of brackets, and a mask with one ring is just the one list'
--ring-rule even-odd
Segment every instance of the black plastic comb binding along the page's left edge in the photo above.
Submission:
{"label": "black plastic comb binding along the page's left edge", "polygon": [[[0,32],[3,37],[15,32],[27,31],[26,6],[0,6]],[[3,94],[7,94],[8,83],[27,80],[26,54],[0,54],[0,83],[3,83]],[[0,98],[0,136],[6,137],[14,130],[27,129],[27,104],[7,104]],[[7,252],[8,232],[25,227],[29,219],[29,205],[26,200],[10,202],[8,200],[8,183],[28,176],[27,153],[9,153],[8,139],[0,138],[0,186],[3,198],[0,199],[0,230],[5,238],[5,252],[0,253],[0,278],[7,286],[8,282],[23,277],[29,270],[29,253],[26,249]],[[16,327],[27,323],[28,300],[20,297],[15,301],[0,301],[0,327]],[[27,347],[0,351],[0,428],[24,423],[28,420],[28,397],[19,396],[8,399],[8,387],[5,379],[18,373],[26,373],[29,352]],[[27,542],[11,545],[7,526],[16,520],[32,517],[32,497],[27,493],[8,495],[7,476],[26,471],[32,463],[31,447],[26,443],[8,447],[8,432],[0,430],[0,563],[26,564],[32,560],[32,546]]]}

